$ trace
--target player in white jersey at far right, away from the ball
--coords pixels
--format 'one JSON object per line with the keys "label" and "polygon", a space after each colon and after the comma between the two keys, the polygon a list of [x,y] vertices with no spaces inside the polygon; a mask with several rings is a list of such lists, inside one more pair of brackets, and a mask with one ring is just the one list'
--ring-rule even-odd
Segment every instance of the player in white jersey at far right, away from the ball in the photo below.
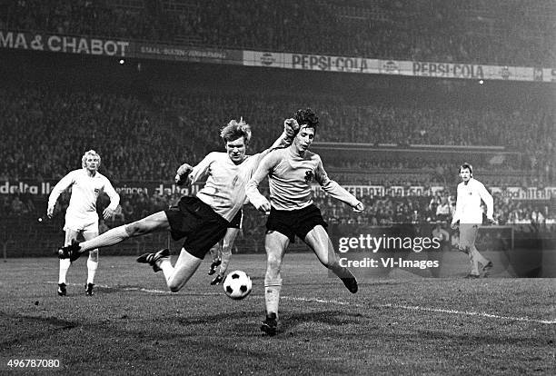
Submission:
{"label": "player in white jersey at far right, away from the ball", "polygon": [[460,251],[469,255],[471,263],[471,271],[466,278],[479,278],[479,263],[482,264],[482,271],[488,272],[492,268],[492,262],[485,259],[475,247],[475,239],[479,226],[482,224],[482,207],[481,200],[486,204],[487,221],[494,223],[492,218],[493,200],[481,182],[473,178],[473,168],[469,163],[463,163],[460,166],[460,177],[462,183],[458,184],[458,194],[456,201],[456,209],[452,218],[452,229],[460,225],[460,242],[458,248]]}

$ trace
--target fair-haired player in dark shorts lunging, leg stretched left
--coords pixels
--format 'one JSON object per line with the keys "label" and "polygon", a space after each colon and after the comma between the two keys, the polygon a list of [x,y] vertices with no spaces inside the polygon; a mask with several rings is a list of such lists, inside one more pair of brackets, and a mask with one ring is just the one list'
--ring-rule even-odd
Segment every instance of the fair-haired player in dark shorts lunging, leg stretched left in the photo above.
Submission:
{"label": "fair-haired player in dark shorts lunging, leg stretched left", "polygon": [[251,140],[249,124],[232,120],[221,130],[226,153],[209,153],[194,167],[184,163],[175,176],[178,184],[191,184],[208,175],[204,188],[196,196],[184,196],[180,202],[163,212],[151,214],[134,223],[116,227],[87,242],[74,242],[59,250],[60,257],[74,260],[81,252],[123,242],[130,237],[169,230],[174,240],[186,237],[174,266],[168,249],[145,253],[137,262],[148,263],[154,272],[163,271],[168,288],[181,290],[197,270],[204,255],[223,239],[230,221],[243,207],[245,184],[259,162],[275,147],[291,143],[287,124],[283,134],[270,149],[251,156],[245,150]]}

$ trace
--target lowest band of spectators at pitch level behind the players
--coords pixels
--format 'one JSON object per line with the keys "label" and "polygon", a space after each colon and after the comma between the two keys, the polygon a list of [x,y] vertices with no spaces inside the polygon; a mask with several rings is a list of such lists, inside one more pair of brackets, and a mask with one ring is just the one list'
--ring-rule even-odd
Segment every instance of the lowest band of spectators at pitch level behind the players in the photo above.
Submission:
{"label": "lowest band of spectators at pitch level behind the players", "polygon": [[[124,223],[130,223],[144,218],[144,216],[166,209],[177,203],[179,194],[158,193],[120,193],[122,198],[120,209],[107,221],[101,219],[99,224],[101,233]],[[494,214],[501,225],[511,225],[516,233],[554,233],[556,232],[556,207],[550,201],[517,201],[495,193]],[[384,226],[396,223],[423,225],[442,223],[444,228],[452,220],[455,210],[455,198],[450,187],[438,193],[427,193],[421,196],[383,196],[360,195],[365,210],[362,213],[352,213],[347,205],[333,200],[329,196],[315,194],[313,196],[317,206],[322,209],[323,218],[333,228],[341,232],[357,232],[365,226]],[[3,216],[0,224],[2,237],[15,236],[15,233],[27,233],[33,236],[36,229],[36,219],[45,216],[44,196],[33,196],[29,193],[12,193],[0,195]],[[64,193],[55,208],[54,228],[49,236],[61,229],[64,213],[69,202],[69,193]],[[97,210],[102,213],[108,204],[108,198],[102,195],[97,203]],[[239,249],[262,251],[265,217],[257,212],[252,205],[243,207],[242,235],[238,239]],[[102,218],[102,216],[101,216]],[[56,224],[57,223],[57,224]],[[24,232],[20,228],[24,225]],[[9,233],[15,226],[17,232]],[[19,226],[19,227],[18,227]],[[57,227],[56,227],[57,226]],[[52,237],[52,236],[51,236]],[[164,239],[159,239],[164,242]]]}

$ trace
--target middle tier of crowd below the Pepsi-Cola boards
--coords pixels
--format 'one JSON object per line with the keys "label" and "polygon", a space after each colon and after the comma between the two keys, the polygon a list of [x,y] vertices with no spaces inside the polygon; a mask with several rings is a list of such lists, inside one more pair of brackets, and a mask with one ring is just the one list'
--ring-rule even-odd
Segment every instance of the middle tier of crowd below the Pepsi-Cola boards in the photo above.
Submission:
{"label": "middle tier of crowd below the Pepsi-Cola boards", "polygon": [[[91,148],[101,154],[102,170],[115,182],[167,181],[177,165],[198,163],[206,153],[222,150],[217,132],[233,117],[243,116],[252,124],[251,153],[262,151],[280,134],[281,119],[299,103],[323,109],[319,142],[505,146],[521,152],[522,158],[501,158],[493,166],[488,160],[473,161],[483,174],[508,172],[491,184],[556,182],[553,109],[532,111],[527,104],[507,113],[265,94],[157,94],[145,100],[132,94],[39,86],[0,89],[0,181],[59,179]],[[452,183],[455,178],[453,163],[414,155],[344,155],[327,166],[338,173],[339,181],[348,183]],[[392,169],[401,174],[382,177],[381,171]],[[526,171],[529,177],[524,180],[512,170]]]}

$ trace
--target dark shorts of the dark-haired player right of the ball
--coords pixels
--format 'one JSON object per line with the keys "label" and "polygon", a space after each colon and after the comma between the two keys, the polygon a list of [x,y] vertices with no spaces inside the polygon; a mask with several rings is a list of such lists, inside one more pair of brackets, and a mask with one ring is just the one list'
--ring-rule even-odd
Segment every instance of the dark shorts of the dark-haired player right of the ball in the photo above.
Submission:
{"label": "dark shorts of the dark-haired player right of the ball", "polygon": [[276,210],[271,208],[271,213],[266,220],[267,231],[277,231],[286,235],[290,242],[295,242],[295,235],[305,240],[305,236],[317,224],[324,228],[328,224],[324,222],[323,214],[313,204],[299,210]]}

